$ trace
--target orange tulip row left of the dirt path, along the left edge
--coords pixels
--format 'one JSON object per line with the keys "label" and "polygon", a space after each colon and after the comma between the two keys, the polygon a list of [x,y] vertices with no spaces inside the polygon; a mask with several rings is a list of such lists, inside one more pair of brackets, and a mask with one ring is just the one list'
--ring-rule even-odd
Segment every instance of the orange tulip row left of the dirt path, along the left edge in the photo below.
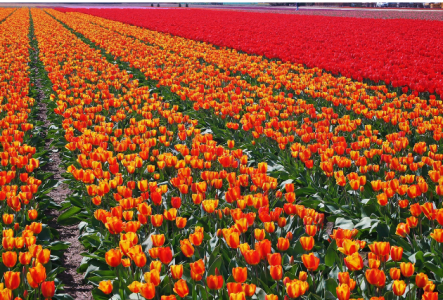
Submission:
{"label": "orange tulip row left of the dirt path, along the left edge", "polygon": [[[12,13],[12,14],[11,14]],[[7,18],[6,18],[7,17]],[[27,9],[0,9],[0,124],[2,128],[0,209],[2,212],[2,280],[0,298],[22,299],[54,295],[54,281],[46,281],[51,250],[38,244],[42,213],[36,198],[42,181],[34,176],[39,160],[28,145],[35,100],[30,92],[30,19]],[[41,149],[39,149],[41,150]],[[41,218],[40,218],[41,219]],[[49,269],[50,270],[50,269]]]}

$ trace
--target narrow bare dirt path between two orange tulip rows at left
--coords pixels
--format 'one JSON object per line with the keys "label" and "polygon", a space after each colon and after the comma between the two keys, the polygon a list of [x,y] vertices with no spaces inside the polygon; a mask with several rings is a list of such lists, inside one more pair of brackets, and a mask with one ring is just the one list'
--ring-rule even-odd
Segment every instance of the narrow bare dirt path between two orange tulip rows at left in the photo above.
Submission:
{"label": "narrow bare dirt path between two orange tulip rows at left", "polygon": [[[32,60],[38,60],[38,52],[33,53],[32,56]],[[36,100],[39,106],[39,112],[37,115],[38,118],[44,122],[44,132],[47,132],[48,128],[51,126],[51,122],[47,118],[47,105],[42,101],[42,99],[44,99],[45,97],[45,93],[43,91],[41,76],[38,76],[38,68],[35,68],[35,72],[37,74],[35,85],[38,90],[38,97]],[[42,169],[46,172],[53,173],[54,175],[52,179],[63,181],[64,178],[61,176],[61,174],[64,173],[65,170],[60,167],[61,159],[59,153],[53,151],[54,148],[51,147],[52,139],[47,139],[46,136],[43,136],[42,138],[45,139],[46,150],[49,150],[49,162],[48,164],[43,166]],[[70,193],[71,190],[69,189],[68,185],[66,183],[61,183],[58,184],[48,195],[49,197],[54,199],[57,204],[60,204]],[[79,230],[77,225],[60,226],[57,223],[57,218],[61,214],[61,212],[58,210],[49,210],[46,213],[49,217],[52,218],[49,226],[55,228],[58,231],[58,233],[60,234],[60,240],[64,242],[69,242],[71,244],[62,257],[62,266],[66,268],[66,270],[58,276],[58,278],[65,285],[65,293],[72,296],[74,299],[92,299],[92,286],[86,285],[83,282],[83,275],[77,273],[77,268],[80,266],[83,258],[80,253],[84,252],[83,246],[78,241]]]}

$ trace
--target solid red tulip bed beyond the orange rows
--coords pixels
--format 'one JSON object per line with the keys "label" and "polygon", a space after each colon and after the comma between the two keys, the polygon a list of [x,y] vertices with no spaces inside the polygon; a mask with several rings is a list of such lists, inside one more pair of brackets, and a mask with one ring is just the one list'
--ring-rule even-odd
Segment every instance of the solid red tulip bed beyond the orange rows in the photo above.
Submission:
{"label": "solid red tulip bed beyond the orange rows", "polygon": [[443,95],[443,54],[434,50],[442,48],[443,23],[440,21],[199,9],[75,11],[268,58],[303,63],[359,81],[370,79]]}

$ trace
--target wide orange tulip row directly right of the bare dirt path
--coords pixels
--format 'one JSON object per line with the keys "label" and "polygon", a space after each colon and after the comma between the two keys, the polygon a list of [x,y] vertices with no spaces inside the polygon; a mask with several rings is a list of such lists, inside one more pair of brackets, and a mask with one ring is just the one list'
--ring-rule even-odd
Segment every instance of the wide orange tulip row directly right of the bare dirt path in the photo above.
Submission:
{"label": "wide orange tulip row directly right of the bare dirt path", "polygon": [[[80,271],[92,282],[109,279],[99,285],[105,294],[147,299],[158,294],[162,299],[349,299],[351,293],[438,297],[433,291],[441,264],[435,245],[425,256],[415,244],[393,237],[395,232],[415,237],[409,227],[394,227],[392,236],[389,230],[383,236],[385,228],[371,220],[369,227],[401,247],[373,237],[362,240],[358,230],[339,229],[329,237],[322,214],[294,204],[293,184],[278,189],[265,163],[248,166],[254,157],[235,149],[239,140],[217,145],[212,135],[196,128],[201,115],[192,120],[178,112],[170,90],[162,88],[164,81],[155,78],[160,95],[149,92],[152,86],[139,87],[134,77],[128,79],[132,74],[120,69],[126,68],[123,63],[110,55],[107,59],[119,68],[105,61],[100,48],[88,47],[63,24],[81,32],[87,43],[99,33],[96,43],[113,55],[120,52],[124,61],[136,51],[120,48],[122,37],[92,24],[88,32],[79,20],[48,12],[63,23],[41,11],[33,14],[41,22],[42,61],[60,115],[53,117],[63,123],[65,158],[72,163],[67,169],[78,191],[70,199],[75,207],[61,218],[86,220],[81,238],[90,253],[84,254]],[[111,43],[115,50],[108,48]],[[133,49],[141,45],[134,39],[126,43]],[[428,206],[415,209],[421,214]],[[362,251],[367,243],[369,255]],[[95,291],[94,296],[104,295]]]}

